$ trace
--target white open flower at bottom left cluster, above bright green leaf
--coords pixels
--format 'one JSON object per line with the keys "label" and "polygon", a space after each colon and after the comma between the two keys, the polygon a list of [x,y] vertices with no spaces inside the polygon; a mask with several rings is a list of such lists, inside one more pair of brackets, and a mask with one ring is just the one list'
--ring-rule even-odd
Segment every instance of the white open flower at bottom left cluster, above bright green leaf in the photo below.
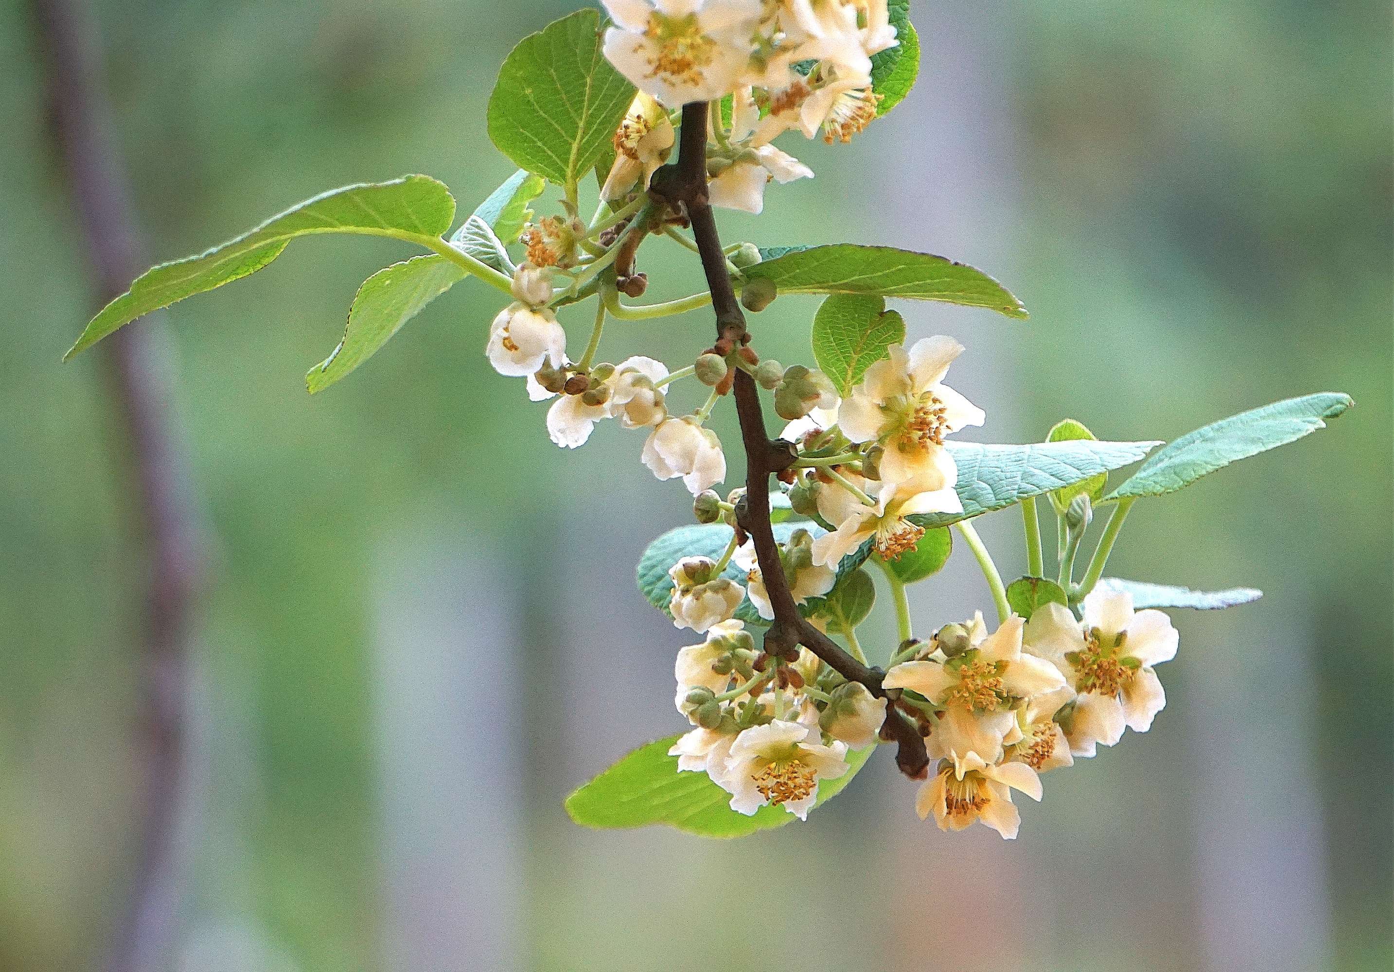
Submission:
{"label": "white open flower at bottom left cluster, above bright green leaf", "polygon": [[778,719],[743,730],[730,744],[723,777],[715,780],[730,794],[730,809],[749,816],[772,804],[806,819],[818,798],[818,780],[848,771],[842,759],[848,748],[817,739],[809,726]]}

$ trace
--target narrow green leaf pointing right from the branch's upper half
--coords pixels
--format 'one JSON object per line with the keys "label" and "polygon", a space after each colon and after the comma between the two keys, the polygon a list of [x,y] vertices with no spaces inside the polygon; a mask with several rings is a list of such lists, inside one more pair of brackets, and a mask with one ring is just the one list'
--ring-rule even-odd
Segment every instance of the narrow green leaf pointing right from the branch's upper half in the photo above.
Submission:
{"label": "narrow green leaf pointing right from the branch's upper half", "polygon": [[966,263],[892,246],[831,244],[760,251],[747,280],[764,277],[781,294],[880,294],[944,301],[1026,318],[1026,308],[981,270]]}

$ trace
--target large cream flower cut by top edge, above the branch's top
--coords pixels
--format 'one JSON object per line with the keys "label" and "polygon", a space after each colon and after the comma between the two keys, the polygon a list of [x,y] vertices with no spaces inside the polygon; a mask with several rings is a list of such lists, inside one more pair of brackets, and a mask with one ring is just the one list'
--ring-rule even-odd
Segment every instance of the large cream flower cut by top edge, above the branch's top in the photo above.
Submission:
{"label": "large cream flower cut by top edge, above the branch's top", "polygon": [[605,57],[673,109],[735,91],[765,17],[761,0],[602,1],[615,19],[605,32]]}

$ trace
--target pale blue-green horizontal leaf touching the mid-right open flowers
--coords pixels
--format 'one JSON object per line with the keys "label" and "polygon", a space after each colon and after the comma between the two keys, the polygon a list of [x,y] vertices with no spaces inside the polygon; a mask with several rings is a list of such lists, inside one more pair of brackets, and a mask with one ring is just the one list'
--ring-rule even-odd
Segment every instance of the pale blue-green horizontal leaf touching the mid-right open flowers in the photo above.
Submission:
{"label": "pale blue-green horizontal leaf touching the mid-right open flowers", "polygon": [[1029,496],[1073,486],[1139,461],[1156,441],[1058,441],[1036,446],[983,446],[945,443],[958,465],[953,485],[963,512],[930,512],[910,517],[921,526],[948,526],[960,519],[1004,510]]}

